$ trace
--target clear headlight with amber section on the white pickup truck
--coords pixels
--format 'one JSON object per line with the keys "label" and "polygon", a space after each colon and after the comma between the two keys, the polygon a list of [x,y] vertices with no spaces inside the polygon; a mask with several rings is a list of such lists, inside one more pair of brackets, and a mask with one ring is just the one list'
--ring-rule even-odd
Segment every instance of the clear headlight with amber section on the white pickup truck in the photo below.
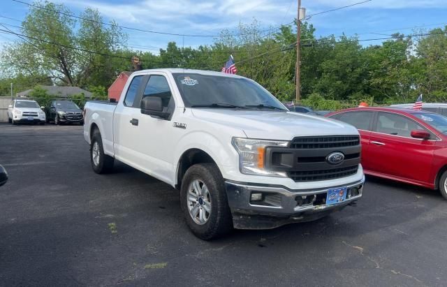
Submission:
{"label": "clear headlight with amber section on the white pickup truck", "polygon": [[265,148],[287,147],[288,142],[280,140],[253,140],[233,138],[233,147],[239,154],[239,168],[244,175],[263,175],[268,177],[287,177],[286,172],[265,169]]}

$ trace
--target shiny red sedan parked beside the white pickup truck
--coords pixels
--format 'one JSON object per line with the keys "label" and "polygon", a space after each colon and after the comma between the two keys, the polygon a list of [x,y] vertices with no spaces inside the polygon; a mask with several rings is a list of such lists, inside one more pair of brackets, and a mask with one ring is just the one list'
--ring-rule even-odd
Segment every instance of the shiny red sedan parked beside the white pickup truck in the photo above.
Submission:
{"label": "shiny red sedan parked beside the white pickup truck", "polygon": [[326,117],[358,128],[365,174],[439,189],[447,199],[447,117],[404,108],[351,108]]}

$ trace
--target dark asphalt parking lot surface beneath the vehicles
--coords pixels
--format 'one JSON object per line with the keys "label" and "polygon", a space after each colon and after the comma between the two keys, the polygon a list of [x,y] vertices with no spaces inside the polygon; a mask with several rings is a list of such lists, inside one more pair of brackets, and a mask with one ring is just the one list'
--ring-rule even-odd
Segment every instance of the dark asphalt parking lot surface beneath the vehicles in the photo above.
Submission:
{"label": "dark asphalt parking lot surface beneath the vehicles", "polygon": [[90,168],[81,126],[0,124],[0,285],[446,286],[447,201],[367,177],[313,223],[205,242],[175,189],[122,163]]}

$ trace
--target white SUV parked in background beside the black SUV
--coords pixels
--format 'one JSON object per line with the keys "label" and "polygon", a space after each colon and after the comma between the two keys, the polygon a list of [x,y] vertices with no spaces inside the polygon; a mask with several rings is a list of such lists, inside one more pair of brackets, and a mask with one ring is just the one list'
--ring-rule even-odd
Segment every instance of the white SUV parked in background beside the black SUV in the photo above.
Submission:
{"label": "white SUV parked in background beside the black SUV", "polygon": [[8,105],[8,122],[10,124],[45,124],[44,107],[36,101],[16,99]]}

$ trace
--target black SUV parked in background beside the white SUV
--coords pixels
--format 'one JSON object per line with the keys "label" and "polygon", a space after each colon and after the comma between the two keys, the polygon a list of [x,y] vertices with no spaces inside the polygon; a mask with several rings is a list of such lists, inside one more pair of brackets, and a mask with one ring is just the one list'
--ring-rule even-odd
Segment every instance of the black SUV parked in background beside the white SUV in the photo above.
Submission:
{"label": "black SUV parked in background beside the white SUV", "polygon": [[47,122],[84,124],[82,110],[73,101],[52,101],[46,112]]}

